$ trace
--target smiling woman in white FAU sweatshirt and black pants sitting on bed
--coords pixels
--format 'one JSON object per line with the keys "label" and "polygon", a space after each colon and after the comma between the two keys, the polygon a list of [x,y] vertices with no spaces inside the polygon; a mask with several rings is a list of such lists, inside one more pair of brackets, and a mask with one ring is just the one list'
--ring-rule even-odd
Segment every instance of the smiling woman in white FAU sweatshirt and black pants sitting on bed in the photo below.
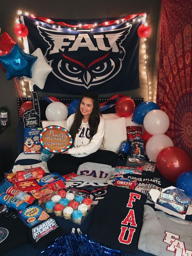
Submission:
{"label": "smiling woman in white FAU sweatshirt and black pants sitting on bed", "polygon": [[99,149],[105,133],[105,120],[100,114],[98,94],[83,94],[76,113],[68,117],[65,128],[73,138],[72,147],[49,160],[49,171],[62,175],[77,173],[79,165],[85,162],[116,166],[117,154]]}

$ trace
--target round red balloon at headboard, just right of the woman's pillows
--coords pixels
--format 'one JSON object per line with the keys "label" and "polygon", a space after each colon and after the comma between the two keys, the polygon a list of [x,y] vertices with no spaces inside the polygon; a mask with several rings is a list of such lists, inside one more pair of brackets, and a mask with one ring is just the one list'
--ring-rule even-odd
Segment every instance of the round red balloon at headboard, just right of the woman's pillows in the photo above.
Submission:
{"label": "round red balloon at headboard, just right of the woman's pillows", "polygon": [[117,100],[115,104],[115,111],[121,117],[128,117],[133,114],[135,110],[134,100],[130,97],[124,96]]}

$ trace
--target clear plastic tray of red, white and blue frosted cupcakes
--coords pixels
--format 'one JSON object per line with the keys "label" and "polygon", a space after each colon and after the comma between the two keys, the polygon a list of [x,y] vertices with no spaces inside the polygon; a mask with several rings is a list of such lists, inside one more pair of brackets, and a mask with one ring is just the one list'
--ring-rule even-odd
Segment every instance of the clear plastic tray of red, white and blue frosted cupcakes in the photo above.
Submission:
{"label": "clear plastic tray of red, white and blue frosted cupcakes", "polygon": [[55,191],[42,206],[47,213],[81,224],[93,209],[93,196],[67,188]]}

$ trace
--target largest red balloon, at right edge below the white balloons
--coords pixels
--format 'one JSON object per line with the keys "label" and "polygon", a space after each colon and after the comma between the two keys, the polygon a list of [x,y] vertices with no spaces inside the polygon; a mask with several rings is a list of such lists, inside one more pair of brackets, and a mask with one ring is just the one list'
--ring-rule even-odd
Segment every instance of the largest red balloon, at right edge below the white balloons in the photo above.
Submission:
{"label": "largest red balloon, at right edge below the white balloons", "polygon": [[192,170],[192,161],[179,147],[166,147],[157,156],[157,168],[161,175],[175,182],[181,173]]}

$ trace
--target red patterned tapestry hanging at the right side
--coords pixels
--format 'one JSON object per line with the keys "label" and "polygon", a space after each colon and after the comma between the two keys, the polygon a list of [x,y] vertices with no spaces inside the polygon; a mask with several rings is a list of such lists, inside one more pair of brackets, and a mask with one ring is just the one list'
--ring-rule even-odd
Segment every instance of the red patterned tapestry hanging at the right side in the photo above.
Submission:
{"label": "red patterned tapestry hanging at the right side", "polygon": [[166,134],[192,158],[192,0],[162,0],[157,104]]}

